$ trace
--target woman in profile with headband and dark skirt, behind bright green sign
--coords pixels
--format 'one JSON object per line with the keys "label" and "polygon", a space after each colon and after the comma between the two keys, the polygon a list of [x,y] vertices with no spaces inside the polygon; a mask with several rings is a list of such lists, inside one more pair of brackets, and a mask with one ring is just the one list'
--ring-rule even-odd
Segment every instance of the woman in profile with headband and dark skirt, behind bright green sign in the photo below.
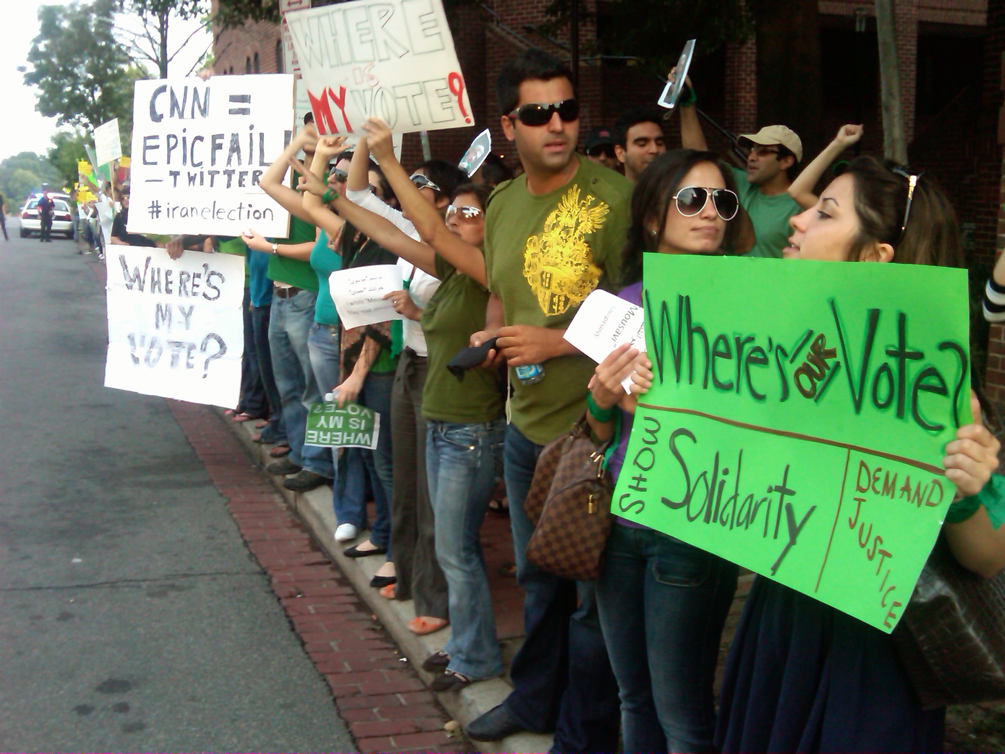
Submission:
{"label": "woman in profile with headband and dark skirt, behind bright green sign", "polygon": [[[872,158],[854,160],[790,223],[786,258],[962,265],[945,196],[928,179]],[[976,397],[972,408],[980,417]],[[1000,445],[979,418],[956,436],[943,460],[957,490],[944,532],[961,565],[987,577],[1005,566],[1005,500],[988,484]],[[755,580],[723,679],[724,751],[940,750],[944,722],[945,709],[922,709],[893,636]]]}

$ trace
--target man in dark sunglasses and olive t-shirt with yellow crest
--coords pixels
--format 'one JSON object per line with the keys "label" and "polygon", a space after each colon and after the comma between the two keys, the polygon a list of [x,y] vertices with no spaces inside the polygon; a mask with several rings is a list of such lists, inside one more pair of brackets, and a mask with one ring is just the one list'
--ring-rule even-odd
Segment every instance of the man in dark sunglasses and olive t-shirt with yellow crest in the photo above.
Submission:
{"label": "man in dark sunglasses and olive t-shirt with yellow crest", "polygon": [[467,733],[495,741],[523,730],[555,731],[554,751],[614,751],[617,683],[594,585],[578,584],[577,594],[576,582],[527,561],[534,527],[524,501],[543,446],[585,409],[595,365],[562,336],[594,289],[617,282],[631,184],[576,154],[579,103],[559,60],[541,50],[521,52],[500,72],[496,95],[502,131],[525,172],[500,184],[488,202],[491,295],[485,331],[472,342],[498,337],[514,389],[504,460],[526,638],[510,669],[513,693]]}

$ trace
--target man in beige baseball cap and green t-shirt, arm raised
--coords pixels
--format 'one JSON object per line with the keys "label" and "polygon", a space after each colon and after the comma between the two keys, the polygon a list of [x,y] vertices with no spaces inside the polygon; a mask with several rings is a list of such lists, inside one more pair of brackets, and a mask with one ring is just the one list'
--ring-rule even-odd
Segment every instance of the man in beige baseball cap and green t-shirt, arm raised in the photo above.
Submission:
{"label": "man in beige baseball cap and green t-shirt, arm raised", "polygon": [[[690,85],[690,79],[686,79]],[[696,100],[681,103],[680,143],[685,149],[708,150],[697,117]],[[756,241],[748,256],[782,257],[788,245],[789,218],[802,212],[789,196],[796,166],[803,159],[803,143],[786,126],[765,126],[756,134],[744,134],[737,145],[747,151],[745,170],[733,169],[740,203],[750,215]]]}

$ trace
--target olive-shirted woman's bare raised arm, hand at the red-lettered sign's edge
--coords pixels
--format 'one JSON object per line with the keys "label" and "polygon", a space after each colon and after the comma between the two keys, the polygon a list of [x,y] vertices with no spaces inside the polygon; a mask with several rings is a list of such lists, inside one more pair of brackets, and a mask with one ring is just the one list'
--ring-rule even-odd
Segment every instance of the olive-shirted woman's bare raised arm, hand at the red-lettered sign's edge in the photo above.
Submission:
{"label": "olive-shirted woman's bare raised arm, hand at the red-lettered sign's edge", "polygon": [[[482,286],[485,285],[485,259],[480,250],[451,233],[436,208],[422,196],[412,183],[411,177],[394,156],[391,131],[375,118],[364,127],[369,134],[367,143],[370,152],[377,158],[384,177],[394,190],[401,209],[412,221],[419,237],[428,243],[436,253],[446,259],[455,269]],[[409,259],[411,261],[411,259]]]}

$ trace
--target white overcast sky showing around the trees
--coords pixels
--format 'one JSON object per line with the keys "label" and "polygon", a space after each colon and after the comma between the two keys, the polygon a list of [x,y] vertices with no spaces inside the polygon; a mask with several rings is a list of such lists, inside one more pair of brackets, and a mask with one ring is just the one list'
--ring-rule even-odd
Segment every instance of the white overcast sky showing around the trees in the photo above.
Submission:
{"label": "white overcast sky showing around the trees", "polygon": [[[42,118],[35,111],[37,91],[23,83],[23,74],[18,72],[17,66],[26,64],[31,40],[38,35],[38,8],[67,4],[67,0],[3,0],[3,22],[8,33],[0,45],[0,80],[4,81],[0,86],[0,101],[4,105],[4,118],[0,119],[0,160],[26,151],[44,155],[56,132],[55,119]],[[120,23],[130,23],[134,29],[142,28],[135,17],[120,16]],[[172,19],[169,26],[171,51],[174,52],[198,25],[195,20]],[[185,75],[209,42],[208,30],[196,34],[172,61],[169,73]]]}

